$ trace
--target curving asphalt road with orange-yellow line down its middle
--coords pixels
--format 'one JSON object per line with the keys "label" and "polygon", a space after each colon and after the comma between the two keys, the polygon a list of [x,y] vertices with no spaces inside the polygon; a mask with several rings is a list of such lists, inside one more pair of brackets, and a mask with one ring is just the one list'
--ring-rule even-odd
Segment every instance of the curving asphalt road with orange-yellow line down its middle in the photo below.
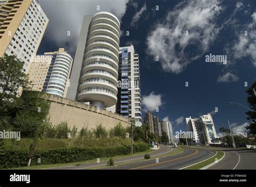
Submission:
{"label": "curving asphalt road with orange-yellow line down its middle", "polygon": [[185,148],[183,153],[160,158],[158,163],[157,160],[150,160],[107,169],[180,169],[208,159],[213,155],[215,152],[211,149]]}

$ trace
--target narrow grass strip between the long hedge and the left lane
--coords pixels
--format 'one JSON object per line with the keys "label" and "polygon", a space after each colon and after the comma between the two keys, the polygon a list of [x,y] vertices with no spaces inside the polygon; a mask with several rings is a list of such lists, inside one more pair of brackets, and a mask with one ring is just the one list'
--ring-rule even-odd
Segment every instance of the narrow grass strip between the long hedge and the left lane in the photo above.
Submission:
{"label": "narrow grass strip between the long hedge and the left lane", "polygon": [[[145,152],[134,153],[133,155],[140,155],[140,154],[151,153],[151,152],[154,152],[154,150],[149,149],[149,150],[146,150]],[[113,156],[112,158],[113,159],[121,159],[121,158],[125,158],[125,157],[130,157],[130,156],[131,155],[120,155],[120,156]],[[100,162],[107,161],[109,159],[110,159],[110,157],[100,158]],[[38,166],[30,166],[30,167],[10,168],[10,170],[11,169],[49,169],[49,168],[57,168],[57,167],[65,167],[65,166],[76,166],[76,165],[80,165],[80,164],[89,164],[89,163],[96,163],[96,159],[87,160],[84,162],[48,164],[48,165],[38,165]]]}

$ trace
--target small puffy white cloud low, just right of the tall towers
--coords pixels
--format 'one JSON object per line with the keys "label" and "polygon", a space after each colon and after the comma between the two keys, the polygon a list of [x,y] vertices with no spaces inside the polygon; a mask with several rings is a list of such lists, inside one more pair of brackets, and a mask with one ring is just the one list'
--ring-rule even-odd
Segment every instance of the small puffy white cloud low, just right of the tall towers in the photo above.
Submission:
{"label": "small puffy white cloud low, just right of the tall towers", "polygon": [[161,97],[161,94],[155,95],[153,91],[150,93],[150,95],[143,96],[142,104],[144,105],[144,111],[154,111],[157,107],[159,108],[163,104]]}

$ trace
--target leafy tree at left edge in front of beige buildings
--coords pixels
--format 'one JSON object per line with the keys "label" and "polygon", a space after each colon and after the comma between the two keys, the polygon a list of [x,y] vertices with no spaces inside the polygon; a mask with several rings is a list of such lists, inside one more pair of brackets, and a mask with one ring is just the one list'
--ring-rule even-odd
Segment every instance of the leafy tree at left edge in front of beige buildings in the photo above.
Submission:
{"label": "leafy tree at left edge in front of beige buildings", "polygon": [[0,99],[15,98],[18,95],[18,88],[28,87],[29,78],[23,72],[24,62],[19,61],[16,56],[4,54],[0,58]]}

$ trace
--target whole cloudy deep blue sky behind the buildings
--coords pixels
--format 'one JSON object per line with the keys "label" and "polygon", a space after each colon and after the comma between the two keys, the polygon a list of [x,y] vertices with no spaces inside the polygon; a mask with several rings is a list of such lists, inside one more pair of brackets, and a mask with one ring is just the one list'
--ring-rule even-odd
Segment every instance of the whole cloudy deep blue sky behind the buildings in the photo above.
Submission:
{"label": "whole cloudy deep blue sky behind the buildings", "polygon": [[[249,87],[256,77],[250,1],[88,0],[72,1],[72,7],[60,1],[39,3],[50,23],[38,54],[65,47],[74,56],[83,15],[96,13],[97,5],[114,13],[121,21],[120,46],[133,44],[139,54],[143,110],[169,119],[173,132],[186,130],[186,117],[215,107],[217,129],[230,120],[235,130],[244,131],[250,122],[247,109],[228,104],[248,106],[245,82]],[[70,14],[60,17],[64,10]],[[227,63],[205,62],[210,53],[226,55]]]}

